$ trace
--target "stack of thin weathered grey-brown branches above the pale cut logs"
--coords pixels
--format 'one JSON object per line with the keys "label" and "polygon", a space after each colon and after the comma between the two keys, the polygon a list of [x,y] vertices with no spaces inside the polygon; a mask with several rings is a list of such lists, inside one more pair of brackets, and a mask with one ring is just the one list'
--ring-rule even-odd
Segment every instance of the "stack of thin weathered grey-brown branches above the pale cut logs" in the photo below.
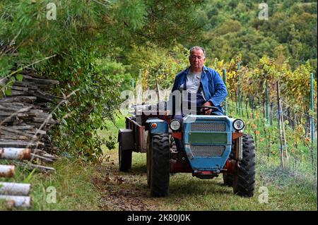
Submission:
{"label": "stack of thin weathered grey-brown branches above the pale cut logs", "polygon": [[58,83],[23,75],[22,81],[12,85],[11,95],[0,99],[0,153],[9,147],[30,149],[33,157],[52,161],[56,150],[47,130],[58,122],[52,118],[48,102],[58,101],[59,97],[47,91]]}

